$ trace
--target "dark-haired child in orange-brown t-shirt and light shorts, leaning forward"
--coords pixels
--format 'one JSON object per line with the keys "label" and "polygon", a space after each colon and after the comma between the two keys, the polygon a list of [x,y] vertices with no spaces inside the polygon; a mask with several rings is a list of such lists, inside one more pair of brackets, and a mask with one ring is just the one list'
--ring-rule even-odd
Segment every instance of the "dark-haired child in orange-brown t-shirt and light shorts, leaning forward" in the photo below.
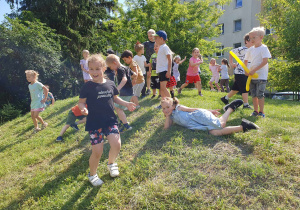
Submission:
{"label": "dark-haired child in orange-brown t-shirt and light shorts, leaning forward", "polygon": [[140,68],[140,65],[138,65],[138,63],[133,59],[133,54],[130,50],[125,50],[122,53],[121,58],[124,60],[126,64],[129,65],[129,68],[137,75],[137,77],[135,77],[135,79],[132,80],[133,96],[131,98],[131,101],[135,103],[136,108],[138,109],[140,108],[139,97],[141,96],[142,89],[145,85],[145,80],[144,80],[145,76],[143,76],[143,72]]}

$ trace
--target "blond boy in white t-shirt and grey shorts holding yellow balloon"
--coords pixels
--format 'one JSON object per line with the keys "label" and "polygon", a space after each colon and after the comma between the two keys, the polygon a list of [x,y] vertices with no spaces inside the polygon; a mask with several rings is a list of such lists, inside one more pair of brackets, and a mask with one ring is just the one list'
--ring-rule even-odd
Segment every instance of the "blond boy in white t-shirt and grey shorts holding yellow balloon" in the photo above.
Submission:
{"label": "blond boy in white t-shirt and grey shorts holding yellow balloon", "polygon": [[[244,63],[247,66],[248,61],[250,64],[250,75],[258,74],[258,78],[252,78],[250,83],[250,92],[252,96],[254,112],[252,116],[265,117],[264,105],[265,105],[265,89],[268,79],[268,59],[271,58],[271,53],[268,47],[262,44],[264,38],[265,29],[263,27],[253,28],[249,32],[250,42],[253,44],[245,55]],[[259,107],[259,112],[258,112]]]}

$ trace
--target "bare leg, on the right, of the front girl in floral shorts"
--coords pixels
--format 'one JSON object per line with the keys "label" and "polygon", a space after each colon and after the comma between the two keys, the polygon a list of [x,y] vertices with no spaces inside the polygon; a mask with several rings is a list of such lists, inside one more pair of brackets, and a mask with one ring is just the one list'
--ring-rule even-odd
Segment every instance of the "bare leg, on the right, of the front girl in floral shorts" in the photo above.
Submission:
{"label": "bare leg, on the right, of the front girl in floral shorts", "polygon": [[107,136],[110,150],[108,154],[108,164],[112,164],[116,161],[121,150],[121,138],[120,134],[110,134]]}

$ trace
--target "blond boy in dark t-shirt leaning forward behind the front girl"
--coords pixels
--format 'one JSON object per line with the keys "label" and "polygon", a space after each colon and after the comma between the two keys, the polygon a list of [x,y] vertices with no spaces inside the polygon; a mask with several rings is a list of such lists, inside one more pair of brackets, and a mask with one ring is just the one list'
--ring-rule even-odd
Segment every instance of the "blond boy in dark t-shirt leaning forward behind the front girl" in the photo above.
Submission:
{"label": "blond boy in dark t-shirt leaning forward behind the front girl", "polygon": [[[131,71],[130,68],[121,65],[120,58],[116,55],[108,55],[106,57],[106,65],[117,72],[117,81],[118,87],[117,89],[120,91],[120,98],[124,101],[130,101],[133,96],[133,89],[131,83],[131,77],[137,77],[137,75]],[[128,124],[126,115],[124,110],[127,110],[125,106],[120,106],[119,104],[115,104],[115,109],[120,118],[120,132],[131,130],[132,127]]]}

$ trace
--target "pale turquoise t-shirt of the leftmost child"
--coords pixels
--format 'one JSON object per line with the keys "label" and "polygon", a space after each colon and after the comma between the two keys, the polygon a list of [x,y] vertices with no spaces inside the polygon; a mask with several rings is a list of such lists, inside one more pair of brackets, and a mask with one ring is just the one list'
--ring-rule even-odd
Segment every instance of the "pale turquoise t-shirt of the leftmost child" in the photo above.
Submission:
{"label": "pale turquoise t-shirt of the leftmost child", "polygon": [[41,103],[41,100],[43,100],[44,97],[43,87],[44,85],[40,82],[35,82],[34,84],[28,85],[31,96],[31,109],[39,109],[45,107],[45,105]]}

